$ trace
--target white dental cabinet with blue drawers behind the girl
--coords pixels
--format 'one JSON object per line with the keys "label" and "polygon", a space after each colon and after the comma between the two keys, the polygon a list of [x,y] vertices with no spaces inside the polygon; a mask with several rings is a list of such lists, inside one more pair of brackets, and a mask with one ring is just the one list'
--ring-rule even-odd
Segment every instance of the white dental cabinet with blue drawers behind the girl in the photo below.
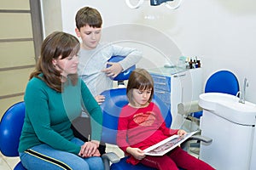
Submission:
{"label": "white dental cabinet with blue drawers behind the girl", "polygon": [[154,79],[154,94],[171,109],[172,128],[180,128],[183,116],[177,114],[177,105],[199,99],[202,93],[202,70],[173,68],[148,69]]}

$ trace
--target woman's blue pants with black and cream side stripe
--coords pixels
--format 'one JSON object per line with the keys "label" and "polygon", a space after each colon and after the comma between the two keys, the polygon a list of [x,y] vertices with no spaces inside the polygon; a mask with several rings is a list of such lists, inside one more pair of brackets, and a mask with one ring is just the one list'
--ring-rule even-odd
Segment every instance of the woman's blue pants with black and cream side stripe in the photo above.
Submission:
{"label": "woman's blue pants with black and cream side stripe", "polygon": [[[76,138],[72,139],[71,142],[79,145],[84,144],[82,140]],[[20,161],[26,169],[104,170],[102,157],[82,158],[73,153],[55,150],[48,144],[39,144],[30,150],[35,152],[35,155],[26,152],[20,153]],[[37,154],[38,156],[36,156]]]}

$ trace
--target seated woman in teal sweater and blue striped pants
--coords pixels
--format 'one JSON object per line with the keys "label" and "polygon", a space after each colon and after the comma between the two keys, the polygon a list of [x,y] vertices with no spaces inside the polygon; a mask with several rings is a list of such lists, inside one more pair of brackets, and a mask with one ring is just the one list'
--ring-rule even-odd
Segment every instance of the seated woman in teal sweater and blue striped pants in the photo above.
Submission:
{"label": "seated woman in teal sweater and blue striped pants", "polygon": [[[44,39],[36,70],[26,86],[20,161],[26,169],[103,169],[99,141],[102,110],[77,74],[79,40],[65,32]],[[73,136],[71,122],[90,113],[89,142]]]}

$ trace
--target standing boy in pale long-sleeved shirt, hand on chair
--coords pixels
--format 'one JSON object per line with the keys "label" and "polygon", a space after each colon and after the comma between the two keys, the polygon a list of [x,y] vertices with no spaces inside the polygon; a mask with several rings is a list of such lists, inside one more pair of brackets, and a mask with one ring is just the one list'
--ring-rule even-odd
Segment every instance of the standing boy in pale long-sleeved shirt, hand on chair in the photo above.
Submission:
{"label": "standing boy in pale long-sleeved shirt, hand on chair", "polygon": [[[75,16],[75,21],[76,34],[82,40],[79,51],[79,77],[83,79],[91,94],[101,105],[105,97],[100,94],[107,89],[113,88],[112,78],[132,65],[136,65],[143,57],[143,54],[135,48],[100,43],[102,16],[96,8],[80,8]],[[125,58],[117,63],[109,63],[108,59],[115,55],[124,56]],[[111,66],[106,68],[107,64]],[[79,133],[83,133],[84,123],[87,123],[88,129],[90,129],[90,121],[88,119],[79,120],[77,123],[80,123],[80,125],[74,126]],[[85,135],[87,137],[88,134]],[[84,139],[83,135],[80,136],[80,139]],[[100,148],[101,153],[104,153],[104,151],[105,146],[102,149]]]}

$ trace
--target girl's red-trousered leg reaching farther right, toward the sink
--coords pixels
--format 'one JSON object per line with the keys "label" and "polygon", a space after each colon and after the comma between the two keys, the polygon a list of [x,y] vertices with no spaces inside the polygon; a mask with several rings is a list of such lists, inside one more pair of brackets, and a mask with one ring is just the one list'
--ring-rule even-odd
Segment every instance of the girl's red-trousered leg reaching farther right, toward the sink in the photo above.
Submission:
{"label": "girl's red-trousered leg reaching farther right, toward the sink", "polygon": [[186,151],[182,150],[180,147],[175,148],[166,154],[170,156],[172,160],[176,163],[177,167],[182,167],[187,170],[212,170],[214,169],[206,162],[201,161],[194,156],[189,155]]}

